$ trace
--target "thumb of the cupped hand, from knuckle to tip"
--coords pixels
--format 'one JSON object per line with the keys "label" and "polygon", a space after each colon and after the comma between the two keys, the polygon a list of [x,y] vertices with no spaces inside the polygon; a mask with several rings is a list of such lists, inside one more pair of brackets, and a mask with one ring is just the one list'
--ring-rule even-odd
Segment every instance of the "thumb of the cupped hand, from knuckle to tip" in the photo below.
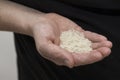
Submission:
{"label": "thumb of the cupped hand, from knuckle to tip", "polygon": [[72,68],[74,66],[71,53],[65,51],[57,45],[47,43],[39,47],[41,55],[57,65],[64,65]]}

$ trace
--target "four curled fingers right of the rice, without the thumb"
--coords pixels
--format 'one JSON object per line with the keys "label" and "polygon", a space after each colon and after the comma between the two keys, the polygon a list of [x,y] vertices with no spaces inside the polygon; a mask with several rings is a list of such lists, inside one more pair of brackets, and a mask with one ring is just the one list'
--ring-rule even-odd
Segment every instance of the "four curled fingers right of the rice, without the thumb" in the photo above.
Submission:
{"label": "four curled fingers right of the rice, without the thumb", "polygon": [[111,53],[112,43],[106,37],[90,31],[84,31],[84,34],[86,38],[92,41],[93,51],[83,54],[73,53],[75,66],[100,61]]}

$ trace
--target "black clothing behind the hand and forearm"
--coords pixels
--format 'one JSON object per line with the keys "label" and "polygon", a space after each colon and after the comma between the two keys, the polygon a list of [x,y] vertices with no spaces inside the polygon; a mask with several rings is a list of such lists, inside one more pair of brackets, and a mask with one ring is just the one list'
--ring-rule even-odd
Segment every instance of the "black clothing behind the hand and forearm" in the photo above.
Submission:
{"label": "black clothing behind the hand and forearm", "polygon": [[19,80],[120,80],[119,0],[11,0],[49,13],[63,15],[82,28],[105,35],[112,53],[102,61],[73,69],[41,57],[33,38],[16,34]]}

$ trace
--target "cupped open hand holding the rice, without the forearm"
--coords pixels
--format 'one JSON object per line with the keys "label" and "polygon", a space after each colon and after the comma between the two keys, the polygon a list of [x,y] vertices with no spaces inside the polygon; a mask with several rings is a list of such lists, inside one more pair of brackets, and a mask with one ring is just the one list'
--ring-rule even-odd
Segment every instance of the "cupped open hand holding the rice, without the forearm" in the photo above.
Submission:
{"label": "cupped open hand holding the rice, without the forearm", "polygon": [[[44,19],[32,25],[32,36],[40,55],[57,65],[69,68],[97,62],[108,56],[112,43],[105,36],[85,31],[71,20],[55,13],[43,15]],[[93,42],[93,51],[87,54],[71,53],[59,47],[60,33],[74,28],[82,31],[85,37]]]}

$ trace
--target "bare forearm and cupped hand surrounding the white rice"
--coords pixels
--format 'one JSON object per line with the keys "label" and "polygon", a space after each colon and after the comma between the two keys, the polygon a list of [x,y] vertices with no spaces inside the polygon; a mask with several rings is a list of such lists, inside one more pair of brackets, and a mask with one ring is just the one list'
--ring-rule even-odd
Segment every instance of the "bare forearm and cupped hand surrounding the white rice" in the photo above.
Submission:
{"label": "bare forearm and cupped hand surrounding the white rice", "polygon": [[[60,34],[74,28],[93,42],[88,54],[70,53],[59,47]],[[56,13],[43,13],[11,1],[0,1],[0,31],[12,31],[34,38],[40,55],[57,65],[73,68],[102,60],[111,52],[112,42],[103,35],[86,31]]]}

